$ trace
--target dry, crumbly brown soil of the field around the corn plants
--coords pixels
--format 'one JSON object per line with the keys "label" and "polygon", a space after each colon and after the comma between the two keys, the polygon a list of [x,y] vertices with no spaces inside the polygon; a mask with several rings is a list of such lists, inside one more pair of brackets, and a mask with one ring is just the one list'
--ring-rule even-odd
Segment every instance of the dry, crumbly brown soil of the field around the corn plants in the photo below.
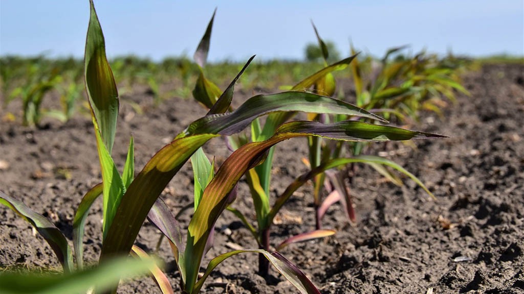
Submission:
{"label": "dry, crumbly brown soil of the field around the corn plants", "polygon": [[[413,146],[377,144],[417,175],[435,194],[431,200],[411,180],[386,182],[360,166],[351,187],[358,220],[345,221],[339,205],[324,218],[336,235],[292,244],[282,254],[301,268],[322,293],[524,293],[524,66],[492,64],[464,75],[471,96],[458,95],[443,118],[423,114],[423,131],[450,136],[419,140]],[[343,85],[350,93],[350,86]],[[258,90],[257,90],[258,91]],[[129,135],[135,139],[137,169],[192,120],[205,114],[190,99],[173,98],[152,107],[147,89],[122,97],[113,155],[122,165]],[[239,84],[235,99],[252,94]],[[141,105],[135,113],[128,101]],[[10,107],[15,108],[16,105]],[[281,193],[307,171],[303,139],[278,145],[272,189]],[[221,163],[223,139],[206,145]],[[0,189],[51,219],[71,241],[72,219],[81,197],[101,180],[89,117],[61,124],[45,120],[38,129],[18,122],[0,124]],[[173,212],[190,203],[190,166],[162,194]],[[279,215],[272,245],[314,229],[312,186],[300,189]],[[274,199],[274,198],[273,198]],[[254,219],[252,200],[241,182],[234,206]],[[85,258],[94,262],[101,248],[102,203],[97,200],[86,222]],[[190,213],[180,222],[188,224]],[[230,212],[216,225],[215,245],[206,260],[237,247],[255,248],[247,229]],[[160,233],[147,221],[136,243],[154,251]],[[72,242],[71,242],[72,244]],[[166,241],[158,255],[177,291],[179,275]],[[271,269],[268,282],[256,274],[258,257],[241,254],[226,260],[206,281],[203,293],[297,292]],[[204,262],[205,264],[205,262]],[[0,268],[59,268],[50,247],[30,225],[0,207]],[[159,293],[147,277],[127,281],[119,293]]]}

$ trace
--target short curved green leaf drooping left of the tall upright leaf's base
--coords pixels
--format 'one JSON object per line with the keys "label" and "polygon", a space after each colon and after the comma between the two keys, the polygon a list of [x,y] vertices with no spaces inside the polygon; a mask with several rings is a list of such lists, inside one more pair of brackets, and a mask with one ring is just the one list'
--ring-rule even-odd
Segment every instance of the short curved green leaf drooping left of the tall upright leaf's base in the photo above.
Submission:
{"label": "short curved green leaf drooping left of the tall upright leaf's base", "polygon": [[83,239],[84,239],[84,225],[85,219],[88,217],[89,209],[93,205],[93,202],[98,198],[103,191],[103,184],[97,184],[91,188],[88,193],[84,195],[80,204],[78,205],[77,212],[74,214],[73,219],[73,246],[74,255],[77,258],[78,269],[83,269],[84,258],[83,258]]}

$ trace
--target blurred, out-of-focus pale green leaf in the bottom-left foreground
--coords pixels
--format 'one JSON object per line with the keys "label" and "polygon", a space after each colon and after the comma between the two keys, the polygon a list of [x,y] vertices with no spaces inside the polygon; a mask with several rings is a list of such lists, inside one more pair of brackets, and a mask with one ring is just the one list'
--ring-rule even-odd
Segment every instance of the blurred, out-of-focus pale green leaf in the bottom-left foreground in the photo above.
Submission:
{"label": "blurred, out-of-focus pale green leaf in the bottom-left foreground", "polygon": [[119,258],[96,268],[69,274],[1,273],[3,294],[71,294],[85,293],[93,287],[106,290],[120,279],[144,275],[155,266],[153,259]]}

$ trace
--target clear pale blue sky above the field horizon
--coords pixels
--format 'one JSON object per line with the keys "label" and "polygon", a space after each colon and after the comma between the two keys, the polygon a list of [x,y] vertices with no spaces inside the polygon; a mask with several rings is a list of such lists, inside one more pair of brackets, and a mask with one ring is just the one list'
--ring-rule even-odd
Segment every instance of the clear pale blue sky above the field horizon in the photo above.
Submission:
{"label": "clear pale blue sky above the field horizon", "polygon": [[[109,58],[192,56],[215,7],[210,61],[303,59],[306,44],[316,42],[311,20],[341,56],[350,54],[350,40],[375,56],[404,44],[412,52],[524,55],[523,0],[94,3]],[[88,0],[0,0],[0,55],[82,58],[88,20]]]}

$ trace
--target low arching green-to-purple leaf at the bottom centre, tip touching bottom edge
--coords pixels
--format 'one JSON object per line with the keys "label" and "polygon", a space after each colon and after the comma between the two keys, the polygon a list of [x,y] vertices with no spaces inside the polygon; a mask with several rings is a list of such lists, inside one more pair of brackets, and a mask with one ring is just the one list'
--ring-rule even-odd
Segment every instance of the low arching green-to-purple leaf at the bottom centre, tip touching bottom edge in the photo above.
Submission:
{"label": "low arching green-to-purple leaf at the bottom centre, tip touching bottom edge", "polygon": [[191,293],[200,292],[200,289],[202,288],[205,279],[209,277],[213,269],[215,269],[215,267],[218,266],[221,262],[223,262],[225,259],[231,256],[234,256],[239,253],[245,253],[245,252],[263,254],[269,260],[269,262],[271,262],[271,264],[277,268],[280,274],[282,274],[282,276],[284,276],[288,281],[290,281],[291,284],[300,291],[300,293],[320,294],[320,291],[316,289],[316,287],[308,279],[308,277],[305,276],[305,274],[302,273],[302,271],[298,267],[296,267],[291,262],[289,262],[288,259],[280,255],[280,253],[278,252],[269,253],[261,249],[235,250],[235,251],[221,254],[211,259],[208,267],[205,269],[204,275],[196,283]]}

